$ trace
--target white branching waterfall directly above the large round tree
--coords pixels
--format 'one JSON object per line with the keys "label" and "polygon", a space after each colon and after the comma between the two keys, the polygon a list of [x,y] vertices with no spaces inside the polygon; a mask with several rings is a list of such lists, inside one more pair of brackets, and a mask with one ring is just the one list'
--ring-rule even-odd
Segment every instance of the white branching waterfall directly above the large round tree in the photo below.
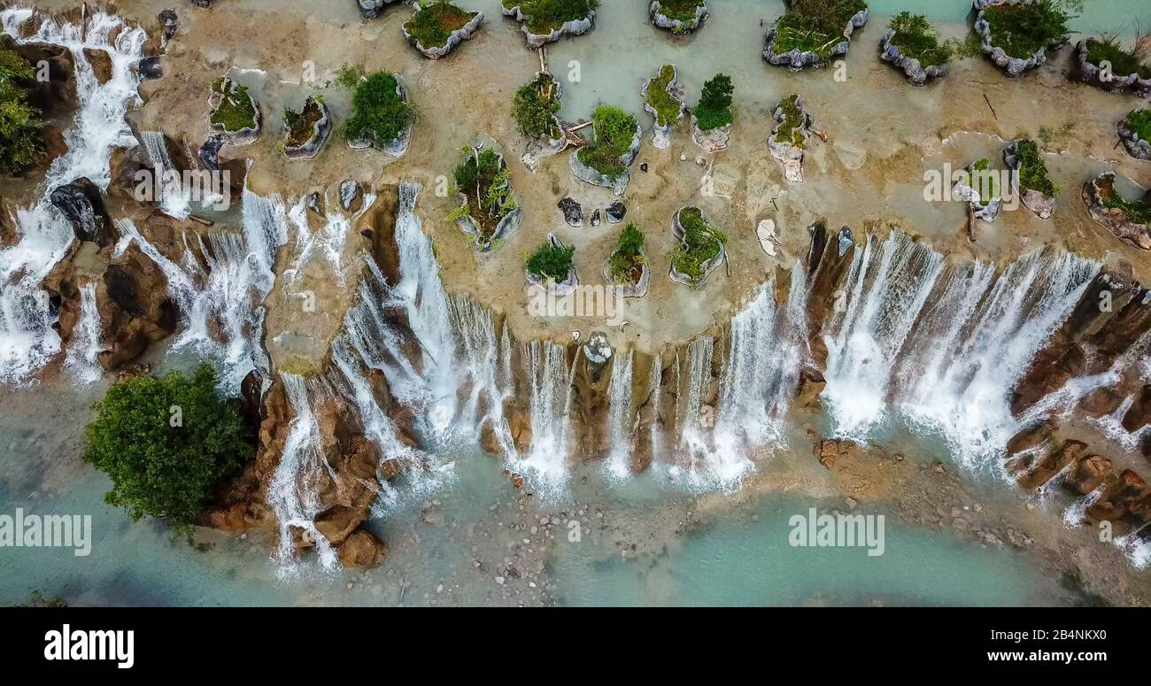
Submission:
{"label": "white branching waterfall directly above the large round tree", "polygon": [[287,243],[284,206],[277,196],[264,198],[244,189],[243,233],[215,231],[206,238],[185,233],[178,265],[144,238],[131,220],[117,220],[116,226],[168,280],[168,295],[183,319],[173,350],[213,358],[228,395],[238,394],[252,369],[267,371],[260,304],[275,284],[275,252]]}

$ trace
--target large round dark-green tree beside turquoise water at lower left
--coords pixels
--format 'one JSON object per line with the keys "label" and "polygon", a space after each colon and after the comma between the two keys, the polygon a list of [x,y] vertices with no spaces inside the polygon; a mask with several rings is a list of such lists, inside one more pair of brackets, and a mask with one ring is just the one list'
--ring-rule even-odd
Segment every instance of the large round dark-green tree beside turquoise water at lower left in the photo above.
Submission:
{"label": "large round dark-green tree beside turquoise water at lower left", "polygon": [[148,516],[188,524],[212,487],[256,452],[239,412],[216,392],[216,374],[206,364],[191,376],[169,372],[161,379],[119,381],[96,410],[84,460],[112,479],[104,500],[125,508],[132,520]]}

